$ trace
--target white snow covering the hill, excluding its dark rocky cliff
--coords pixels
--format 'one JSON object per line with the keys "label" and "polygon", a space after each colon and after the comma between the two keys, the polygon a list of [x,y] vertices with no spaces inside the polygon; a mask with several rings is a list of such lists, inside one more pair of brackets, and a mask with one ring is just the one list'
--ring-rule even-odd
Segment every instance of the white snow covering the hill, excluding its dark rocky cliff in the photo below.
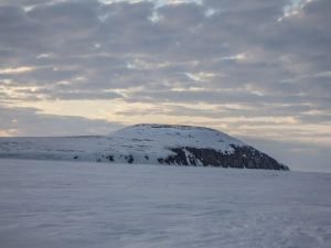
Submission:
{"label": "white snow covering the hill, excluding its dark rocky cliff", "polygon": [[[223,132],[201,127],[136,125],[109,136],[1,138],[0,158],[78,160],[125,163],[131,155],[134,163],[158,164],[159,158],[174,154],[169,148],[211,148],[233,152],[244,142]],[[76,159],[74,159],[76,158]]]}

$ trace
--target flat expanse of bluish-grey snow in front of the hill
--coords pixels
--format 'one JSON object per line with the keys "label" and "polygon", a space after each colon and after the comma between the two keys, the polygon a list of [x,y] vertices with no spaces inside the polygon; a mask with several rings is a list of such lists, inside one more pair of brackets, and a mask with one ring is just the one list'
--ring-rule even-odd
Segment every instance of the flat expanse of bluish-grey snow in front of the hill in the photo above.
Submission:
{"label": "flat expanse of bluish-grey snow in front of the hill", "polygon": [[330,247],[331,174],[0,160],[0,247]]}

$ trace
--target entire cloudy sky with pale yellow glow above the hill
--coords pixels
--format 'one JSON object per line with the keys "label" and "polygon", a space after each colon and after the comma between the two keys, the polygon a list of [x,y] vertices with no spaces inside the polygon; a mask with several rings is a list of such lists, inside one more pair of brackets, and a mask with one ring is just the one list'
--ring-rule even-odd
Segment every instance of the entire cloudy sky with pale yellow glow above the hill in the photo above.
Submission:
{"label": "entire cloudy sky with pale yellow glow above the hill", "polygon": [[331,172],[330,0],[0,0],[0,137],[204,126]]}

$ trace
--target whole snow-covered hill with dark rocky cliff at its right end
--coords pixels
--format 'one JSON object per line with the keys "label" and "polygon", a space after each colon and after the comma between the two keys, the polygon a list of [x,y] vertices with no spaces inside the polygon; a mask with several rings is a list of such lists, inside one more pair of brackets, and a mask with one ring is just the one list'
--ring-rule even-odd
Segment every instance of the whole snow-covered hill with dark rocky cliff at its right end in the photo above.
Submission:
{"label": "whole snow-covered hill with dark rocky cliff at its right end", "polygon": [[0,158],[288,170],[217,130],[136,125],[109,136],[1,138]]}

